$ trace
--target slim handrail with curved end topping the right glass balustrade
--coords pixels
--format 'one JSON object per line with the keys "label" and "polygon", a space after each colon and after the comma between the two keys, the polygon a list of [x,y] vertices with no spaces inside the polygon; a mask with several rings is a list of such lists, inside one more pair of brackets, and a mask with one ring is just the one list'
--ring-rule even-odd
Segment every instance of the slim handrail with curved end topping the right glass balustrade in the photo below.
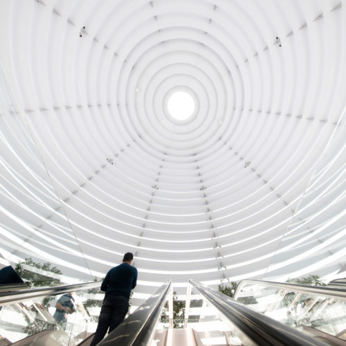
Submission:
{"label": "slim handrail with curved end topping the right glass balustrade", "polygon": [[305,284],[291,284],[288,282],[271,282],[271,281],[262,281],[262,280],[242,280],[237,285],[235,294],[233,295],[234,299],[237,299],[237,296],[242,289],[244,284],[257,284],[262,286],[271,286],[279,289],[286,289],[288,291],[298,292],[298,293],[310,293],[313,295],[325,295],[330,298],[342,298],[346,299],[346,290],[338,289],[336,287],[329,286],[308,286]]}

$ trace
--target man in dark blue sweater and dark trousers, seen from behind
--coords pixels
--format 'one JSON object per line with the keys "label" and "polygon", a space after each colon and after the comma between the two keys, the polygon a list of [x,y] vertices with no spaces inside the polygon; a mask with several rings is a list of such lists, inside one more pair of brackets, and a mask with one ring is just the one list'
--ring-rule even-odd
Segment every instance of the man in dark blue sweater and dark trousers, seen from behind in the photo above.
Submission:
{"label": "man in dark blue sweater and dark trousers, seen from behind", "polygon": [[95,346],[104,338],[109,329],[113,331],[125,319],[129,309],[131,289],[137,284],[137,269],[131,266],[134,255],[125,253],[122,264],[111,268],[101,285],[105,291],[104,300],[98,319],[98,327],[90,346]]}

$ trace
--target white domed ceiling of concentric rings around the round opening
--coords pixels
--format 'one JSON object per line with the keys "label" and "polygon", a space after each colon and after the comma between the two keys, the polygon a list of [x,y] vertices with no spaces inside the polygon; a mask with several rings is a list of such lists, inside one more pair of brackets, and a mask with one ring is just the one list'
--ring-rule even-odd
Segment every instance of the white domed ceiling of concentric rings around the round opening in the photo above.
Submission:
{"label": "white domed ceiling of concentric rings around the round opening", "polygon": [[138,293],[336,275],[344,2],[1,1],[3,257],[68,282],[131,251]]}

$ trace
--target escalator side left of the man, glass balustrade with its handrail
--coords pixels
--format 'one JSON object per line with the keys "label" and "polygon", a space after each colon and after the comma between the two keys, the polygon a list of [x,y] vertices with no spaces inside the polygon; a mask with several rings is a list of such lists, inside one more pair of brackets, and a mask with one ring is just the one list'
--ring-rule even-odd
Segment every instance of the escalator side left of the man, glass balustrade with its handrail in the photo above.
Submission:
{"label": "escalator side left of the man, glass balustrade with its handrail", "polygon": [[[99,288],[100,282],[89,282],[0,292],[0,346],[78,345],[95,330],[97,320],[90,311],[102,304]],[[71,311],[57,318],[57,302],[69,293]]]}

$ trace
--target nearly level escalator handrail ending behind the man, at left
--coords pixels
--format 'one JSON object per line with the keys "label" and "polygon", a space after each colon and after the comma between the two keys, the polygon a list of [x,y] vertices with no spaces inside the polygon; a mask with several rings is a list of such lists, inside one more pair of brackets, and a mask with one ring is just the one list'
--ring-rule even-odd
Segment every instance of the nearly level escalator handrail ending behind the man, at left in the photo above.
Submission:
{"label": "nearly level escalator handrail ending behind the man, at left", "polygon": [[31,300],[33,298],[41,298],[71,291],[80,291],[82,289],[99,288],[102,281],[83,282],[82,284],[67,284],[62,286],[44,287],[42,289],[27,289],[25,291],[8,291],[0,293],[0,306],[4,304],[13,304]]}

